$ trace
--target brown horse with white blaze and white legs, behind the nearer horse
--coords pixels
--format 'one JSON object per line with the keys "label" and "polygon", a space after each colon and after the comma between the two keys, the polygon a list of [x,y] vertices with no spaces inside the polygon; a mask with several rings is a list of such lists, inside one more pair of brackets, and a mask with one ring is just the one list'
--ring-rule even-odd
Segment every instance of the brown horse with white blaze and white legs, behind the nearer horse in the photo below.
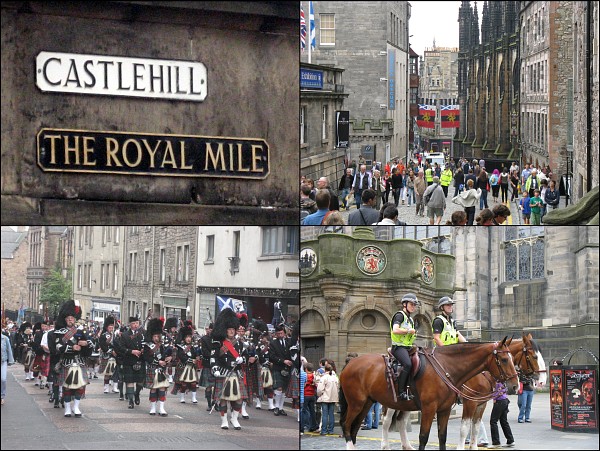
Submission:
{"label": "brown horse with white blaze and white legs, behind the nearer horse", "polygon": [[[513,340],[508,346],[508,349],[513,355],[515,368],[521,370],[526,375],[533,375],[535,379],[539,378],[539,385],[544,385],[546,383],[546,366],[541,355],[541,349],[533,341],[531,334],[523,334],[523,340]],[[483,374],[476,375],[474,378],[467,381],[465,386],[469,388],[463,388],[461,391],[466,393],[467,396],[472,395],[474,397],[485,397],[486,395],[491,394],[495,388],[493,382]],[[471,437],[478,436],[481,424],[480,421],[486,405],[487,400],[476,401],[463,398],[462,422],[457,449],[464,449],[465,437],[469,427],[471,429]],[[404,415],[406,413],[407,412],[399,412],[396,415],[396,411],[391,409],[387,410],[382,425],[383,436],[381,440],[381,449],[390,449],[388,431],[395,415],[397,417],[396,425],[398,432],[400,433],[400,441],[403,449],[413,449],[408,441],[408,436],[406,435],[406,420],[408,419],[408,415]],[[470,448],[477,449],[477,441],[475,439],[471,440]]]}

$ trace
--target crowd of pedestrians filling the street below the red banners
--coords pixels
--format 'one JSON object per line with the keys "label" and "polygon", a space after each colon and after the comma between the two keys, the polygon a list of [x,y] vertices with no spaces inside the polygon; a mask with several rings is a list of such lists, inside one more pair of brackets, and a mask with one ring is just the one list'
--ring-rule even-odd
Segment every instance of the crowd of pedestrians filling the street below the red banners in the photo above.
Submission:
{"label": "crowd of pedestrians filling the street below the red banners", "polygon": [[[312,179],[301,178],[303,225],[404,225],[402,206],[414,206],[414,215],[427,215],[430,225],[441,224],[449,193],[450,200],[463,207],[465,215],[455,211],[446,224],[501,224],[510,216],[507,204],[515,202],[524,224],[540,225],[548,210],[558,208],[560,203],[548,166],[525,164],[519,171],[517,163],[512,162],[508,168],[503,165],[488,172],[484,160],[447,159],[442,167],[420,160],[404,165],[395,159],[383,167],[375,163],[367,170],[361,161],[364,159],[344,169],[337,194],[327,177],[320,177],[316,186]],[[356,208],[344,219],[341,211],[353,206]]]}

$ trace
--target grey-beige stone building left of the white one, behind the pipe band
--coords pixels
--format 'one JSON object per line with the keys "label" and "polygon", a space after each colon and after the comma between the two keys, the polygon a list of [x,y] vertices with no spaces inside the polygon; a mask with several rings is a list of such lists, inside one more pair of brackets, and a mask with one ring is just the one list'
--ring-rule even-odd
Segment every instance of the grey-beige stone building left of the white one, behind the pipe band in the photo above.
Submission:
{"label": "grey-beige stone building left of the white one, behind the pipe band", "polygon": [[195,321],[198,227],[125,228],[122,318]]}

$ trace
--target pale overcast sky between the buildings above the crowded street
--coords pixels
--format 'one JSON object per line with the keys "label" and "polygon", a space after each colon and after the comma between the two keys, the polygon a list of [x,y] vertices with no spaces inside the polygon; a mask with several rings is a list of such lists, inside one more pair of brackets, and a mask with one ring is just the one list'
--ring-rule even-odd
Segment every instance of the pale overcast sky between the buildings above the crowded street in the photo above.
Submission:
{"label": "pale overcast sky between the buildings above the crowded street", "polygon": [[[461,2],[411,1],[411,17],[408,22],[410,45],[423,56],[425,48],[433,47],[433,38],[438,47],[458,47],[458,8]],[[474,3],[471,3],[474,5]],[[479,20],[481,8],[479,2]]]}

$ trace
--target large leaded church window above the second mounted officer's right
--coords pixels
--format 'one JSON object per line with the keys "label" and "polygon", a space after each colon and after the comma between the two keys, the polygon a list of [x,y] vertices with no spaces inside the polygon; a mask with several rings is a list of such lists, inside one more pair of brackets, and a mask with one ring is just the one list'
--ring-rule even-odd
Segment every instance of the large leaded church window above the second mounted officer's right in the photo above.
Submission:
{"label": "large leaded church window above the second mounted officer's right", "polygon": [[544,227],[507,227],[504,233],[505,280],[543,279]]}

